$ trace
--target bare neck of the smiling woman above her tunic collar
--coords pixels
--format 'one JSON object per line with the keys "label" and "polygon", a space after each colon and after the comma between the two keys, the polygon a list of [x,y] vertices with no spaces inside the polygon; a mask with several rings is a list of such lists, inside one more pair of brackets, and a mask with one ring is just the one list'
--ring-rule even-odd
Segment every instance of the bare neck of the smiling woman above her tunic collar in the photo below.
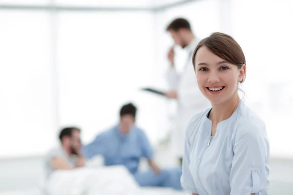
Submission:
{"label": "bare neck of the smiling woman above her tunic collar", "polygon": [[221,104],[212,104],[212,110],[209,113],[209,119],[218,124],[222,120],[226,120],[231,117],[233,112],[237,109],[238,104],[240,102],[240,98],[238,93],[235,94],[229,100],[221,103]]}

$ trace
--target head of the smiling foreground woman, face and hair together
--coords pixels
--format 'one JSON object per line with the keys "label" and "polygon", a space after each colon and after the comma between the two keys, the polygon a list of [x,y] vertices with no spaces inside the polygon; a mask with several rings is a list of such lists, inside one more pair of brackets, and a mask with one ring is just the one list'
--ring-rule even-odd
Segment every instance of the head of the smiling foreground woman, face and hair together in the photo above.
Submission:
{"label": "head of the smiling foreground woman, face and hair together", "polygon": [[[246,76],[245,56],[240,45],[223,33],[214,33],[200,41],[192,63],[199,89],[214,103],[230,99],[237,91],[238,82],[243,82]],[[225,91],[227,93],[222,93]]]}

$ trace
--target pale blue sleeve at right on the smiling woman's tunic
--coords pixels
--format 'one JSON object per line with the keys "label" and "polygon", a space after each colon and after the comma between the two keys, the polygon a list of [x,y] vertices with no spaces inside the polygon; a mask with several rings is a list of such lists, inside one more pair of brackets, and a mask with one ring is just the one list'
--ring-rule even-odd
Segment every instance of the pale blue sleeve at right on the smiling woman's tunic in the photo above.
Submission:
{"label": "pale blue sleeve at right on the smiling woman's tunic", "polygon": [[270,148],[265,124],[238,125],[234,142],[230,195],[267,195]]}

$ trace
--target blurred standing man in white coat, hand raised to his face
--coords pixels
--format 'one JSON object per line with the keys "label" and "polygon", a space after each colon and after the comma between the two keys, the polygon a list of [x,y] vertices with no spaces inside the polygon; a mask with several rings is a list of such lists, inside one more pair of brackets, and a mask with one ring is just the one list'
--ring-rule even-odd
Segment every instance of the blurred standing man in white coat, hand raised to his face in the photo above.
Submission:
{"label": "blurred standing man in white coat, hand raised to his face", "polygon": [[168,52],[170,67],[167,71],[167,81],[170,91],[166,93],[166,96],[177,100],[177,116],[171,145],[181,163],[188,122],[193,115],[208,109],[210,103],[198,89],[191,60],[193,51],[200,40],[192,33],[189,22],[182,18],[173,20],[167,26],[167,32],[171,34],[175,44],[180,45],[188,53],[183,72],[179,74],[174,65],[174,47]]}

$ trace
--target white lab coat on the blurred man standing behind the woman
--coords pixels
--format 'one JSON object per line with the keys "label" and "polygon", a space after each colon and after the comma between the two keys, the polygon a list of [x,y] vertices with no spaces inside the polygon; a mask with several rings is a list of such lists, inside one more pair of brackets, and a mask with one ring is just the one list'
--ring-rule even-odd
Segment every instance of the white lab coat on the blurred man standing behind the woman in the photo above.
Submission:
{"label": "white lab coat on the blurred man standing behind the woman", "polygon": [[210,107],[210,102],[200,92],[192,66],[192,54],[199,40],[193,39],[185,48],[188,59],[179,74],[174,67],[167,71],[167,81],[171,90],[177,90],[177,114],[172,128],[171,148],[175,156],[184,155],[185,130],[191,117]]}

